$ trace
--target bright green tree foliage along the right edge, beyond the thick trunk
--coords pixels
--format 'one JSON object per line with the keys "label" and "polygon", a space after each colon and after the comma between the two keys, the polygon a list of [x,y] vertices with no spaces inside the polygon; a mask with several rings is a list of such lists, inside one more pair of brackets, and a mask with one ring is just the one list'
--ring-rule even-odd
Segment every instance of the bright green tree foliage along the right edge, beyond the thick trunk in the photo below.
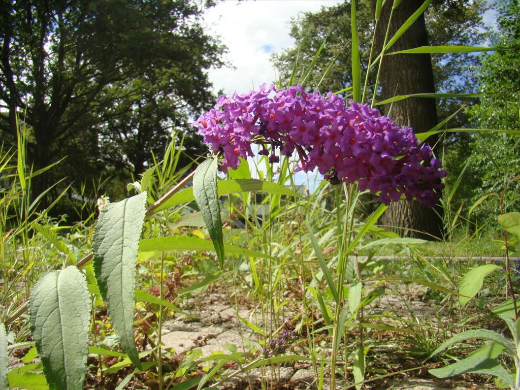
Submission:
{"label": "bright green tree foliage along the right edge, beyond the thick trunk", "polygon": [[[517,0],[501,2],[498,12],[498,32],[492,37],[492,45],[500,50],[484,57],[478,70],[478,83],[485,97],[467,113],[475,127],[520,131],[520,4]],[[506,183],[520,175],[518,135],[474,134],[453,153],[463,157],[459,160],[461,165],[471,155],[466,171],[471,188],[463,189],[468,206],[487,193],[501,194]],[[520,184],[509,188],[504,206],[506,212],[520,210]],[[496,198],[489,198],[473,212],[473,219],[479,224],[493,222],[496,226],[498,210]]]}

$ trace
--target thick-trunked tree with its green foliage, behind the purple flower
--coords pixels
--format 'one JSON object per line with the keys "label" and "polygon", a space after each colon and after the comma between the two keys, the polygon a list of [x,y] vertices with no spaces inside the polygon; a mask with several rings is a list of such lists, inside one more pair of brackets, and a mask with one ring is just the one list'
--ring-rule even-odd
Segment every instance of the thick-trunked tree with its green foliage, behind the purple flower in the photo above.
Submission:
{"label": "thick-trunked tree with its green foliage, behind the purple flower", "polygon": [[[382,40],[386,31],[389,8],[392,2],[386,2],[383,14],[379,22],[381,26],[376,34],[378,49],[382,46]],[[401,2],[393,17],[389,36],[402,25],[423,2],[406,1]],[[357,23],[359,32],[361,63],[367,64],[368,53],[373,33],[372,14],[370,2],[358,1]],[[396,42],[391,51],[427,45],[427,38],[433,36],[431,44],[435,45],[474,45],[482,43],[484,33],[480,31],[483,27],[482,14],[487,9],[483,1],[476,2],[446,2],[434,1],[428,7],[425,17],[414,23],[410,30]],[[386,19],[385,19],[386,17]],[[342,90],[350,85],[352,75],[350,74],[350,4],[347,2],[328,9],[323,8],[318,14],[305,14],[300,20],[292,22],[291,35],[296,39],[294,48],[285,50],[284,53],[274,56],[273,60],[280,69],[283,81],[289,81],[295,58],[296,75],[304,75],[305,69],[321,45],[325,36],[327,42],[318,57],[316,64],[306,80],[306,86],[314,89],[318,86],[322,90]],[[375,53],[379,53],[375,50]],[[299,55],[298,55],[299,54]],[[433,59],[430,56],[418,55],[395,55],[385,56],[382,68],[382,90],[381,100],[393,97],[395,94],[410,94],[421,92],[475,92],[472,90],[473,80],[466,76],[470,74],[466,70],[475,63],[471,56],[438,55]],[[397,64],[400,62],[399,64]],[[435,73],[432,75],[432,63]],[[330,66],[330,68],[328,68]],[[324,75],[329,69],[327,75]],[[369,84],[373,84],[374,69],[369,74]],[[366,71],[362,69],[362,73]],[[425,71],[426,73],[423,73]],[[321,80],[321,76],[323,80]],[[298,77],[296,77],[296,81]],[[413,81],[412,81],[413,80]],[[365,101],[371,97],[373,92],[365,95]],[[439,120],[444,119],[448,113],[453,111],[453,102],[446,100],[438,101]],[[424,105],[423,108],[421,108]],[[414,106],[414,108],[412,108]],[[426,107],[429,106],[429,107]],[[383,107],[383,110],[385,108]],[[414,112],[423,112],[421,116],[413,118]],[[388,109],[387,109],[388,110]],[[416,132],[426,131],[437,124],[435,114],[435,101],[428,99],[407,99],[394,102],[391,116],[401,125],[412,125]],[[460,125],[466,118],[459,115],[457,118]],[[412,215],[419,215],[417,211],[409,211],[407,215],[400,215],[391,210],[386,213],[387,225],[401,225],[409,229],[427,231],[433,235],[439,235],[439,222],[435,214],[424,214],[421,220],[413,223]],[[398,217],[399,216],[399,217]],[[388,220],[391,218],[391,220]],[[412,230],[405,230],[405,235],[415,235]],[[420,236],[420,235],[419,235]]]}

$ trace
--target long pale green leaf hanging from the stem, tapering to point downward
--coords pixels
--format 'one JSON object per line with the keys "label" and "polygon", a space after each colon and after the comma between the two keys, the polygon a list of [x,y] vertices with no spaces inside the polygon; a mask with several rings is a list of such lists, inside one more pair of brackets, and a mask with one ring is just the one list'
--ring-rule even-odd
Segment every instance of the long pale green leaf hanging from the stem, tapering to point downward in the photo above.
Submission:
{"label": "long pale green leaf hanging from the stem, tapering to point downward", "polygon": [[121,345],[141,369],[134,341],[135,264],[145,219],[146,192],[110,203],[94,229],[94,271]]}

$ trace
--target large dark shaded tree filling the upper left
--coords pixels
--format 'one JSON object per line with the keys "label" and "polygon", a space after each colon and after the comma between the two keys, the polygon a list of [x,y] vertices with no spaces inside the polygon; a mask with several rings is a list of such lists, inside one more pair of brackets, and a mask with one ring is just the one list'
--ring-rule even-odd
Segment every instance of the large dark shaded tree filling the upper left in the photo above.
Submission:
{"label": "large dark shaded tree filling the upper left", "polygon": [[[28,125],[34,170],[69,154],[62,169],[85,178],[106,165],[111,144],[127,147],[112,167],[139,173],[142,155],[114,140],[161,142],[213,98],[204,70],[222,65],[223,47],[204,34],[202,12],[194,0],[2,0],[2,136],[15,139],[16,115]],[[33,196],[54,179],[35,177]]]}

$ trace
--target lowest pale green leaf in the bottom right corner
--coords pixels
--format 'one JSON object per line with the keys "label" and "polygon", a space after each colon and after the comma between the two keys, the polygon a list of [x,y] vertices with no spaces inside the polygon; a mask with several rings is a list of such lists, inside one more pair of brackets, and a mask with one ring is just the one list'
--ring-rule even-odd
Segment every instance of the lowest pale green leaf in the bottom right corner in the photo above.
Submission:
{"label": "lowest pale green leaf in the bottom right corner", "polygon": [[503,349],[503,346],[500,344],[490,343],[480,347],[464,359],[451,363],[446,367],[428,370],[428,372],[437,378],[448,378],[465,373],[489,374],[498,376],[508,385],[514,387],[513,376],[495,360],[502,353]]}

